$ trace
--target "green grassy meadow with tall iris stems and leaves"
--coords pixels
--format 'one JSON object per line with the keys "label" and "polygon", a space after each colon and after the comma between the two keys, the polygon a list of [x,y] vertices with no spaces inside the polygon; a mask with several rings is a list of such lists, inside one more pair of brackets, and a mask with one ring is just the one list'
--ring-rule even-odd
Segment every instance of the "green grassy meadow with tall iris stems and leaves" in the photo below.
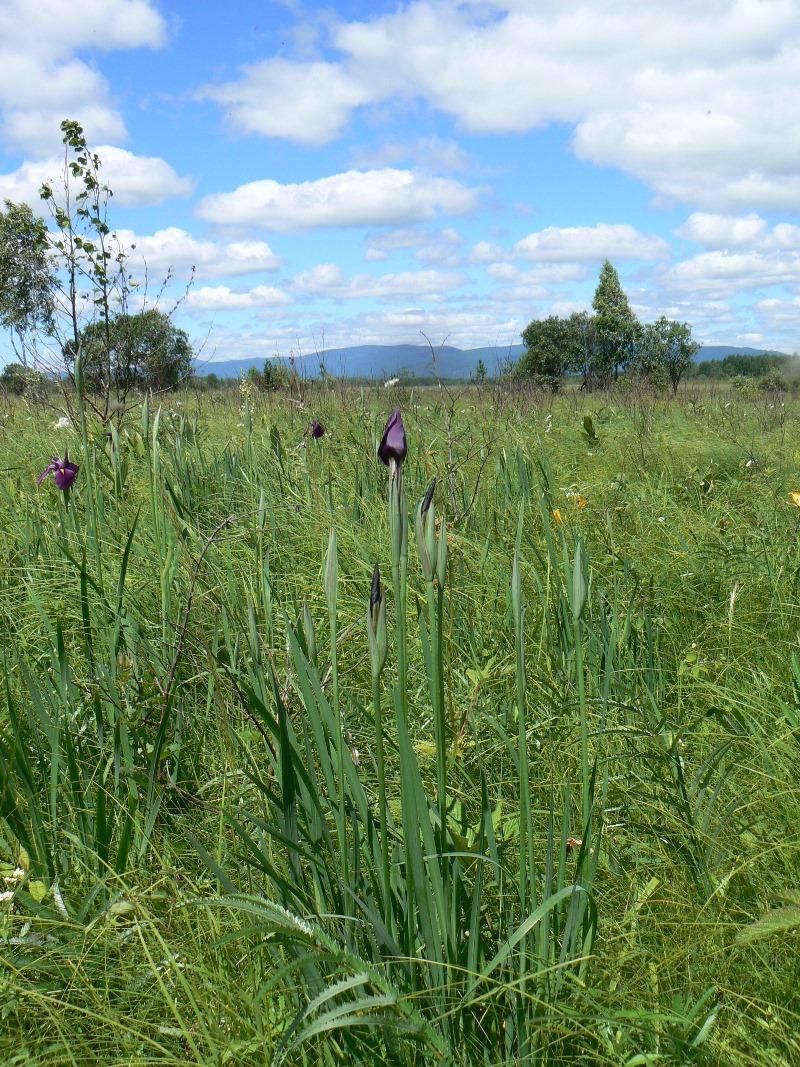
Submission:
{"label": "green grassy meadow with tall iris stems and leaves", "polygon": [[800,1062],[797,397],[0,404],[2,1064]]}

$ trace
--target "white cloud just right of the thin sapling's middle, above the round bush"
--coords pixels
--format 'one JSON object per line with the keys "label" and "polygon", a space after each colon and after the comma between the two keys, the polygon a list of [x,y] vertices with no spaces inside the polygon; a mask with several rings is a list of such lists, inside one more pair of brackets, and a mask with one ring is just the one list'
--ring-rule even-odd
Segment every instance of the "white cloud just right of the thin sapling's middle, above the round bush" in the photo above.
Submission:
{"label": "white cloud just right of the thin sapling's middle, above the round bush", "polygon": [[253,274],[275,271],[282,259],[275,255],[266,241],[201,241],[185,229],[169,226],[149,236],[134,234],[130,229],[116,230],[123,248],[129,251],[131,262],[142,261],[148,273],[165,272],[171,267],[176,270],[196,269],[197,277],[219,277],[221,275]]}

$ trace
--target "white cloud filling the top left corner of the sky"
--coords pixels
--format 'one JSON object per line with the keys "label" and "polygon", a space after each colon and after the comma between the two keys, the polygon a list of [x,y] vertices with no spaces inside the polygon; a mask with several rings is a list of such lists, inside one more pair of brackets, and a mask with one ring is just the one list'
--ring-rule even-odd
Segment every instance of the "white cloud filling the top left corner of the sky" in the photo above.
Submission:
{"label": "white cloud filling the top left corner of the sky", "polygon": [[125,128],[106,79],[82,49],[159,48],[166,25],[147,0],[5,0],[0,5],[0,137],[45,156],[61,142],[64,115],[97,140]]}

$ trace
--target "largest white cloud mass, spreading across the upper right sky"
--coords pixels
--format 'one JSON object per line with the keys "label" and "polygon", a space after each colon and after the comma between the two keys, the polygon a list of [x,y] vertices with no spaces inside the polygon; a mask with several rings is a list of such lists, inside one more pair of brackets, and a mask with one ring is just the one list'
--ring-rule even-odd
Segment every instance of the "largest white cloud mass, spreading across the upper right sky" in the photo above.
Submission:
{"label": "largest white cloud mass, spreading across the upper right sky", "polygon": [[266,59],[203,92],[241,129],[301,143],[339,136],[354,109],[409,100],[479,133],[562,123],[581,159],[660,195],[800,205],[795,0],[417,0],[334,25],[330,45],[324,62]]}

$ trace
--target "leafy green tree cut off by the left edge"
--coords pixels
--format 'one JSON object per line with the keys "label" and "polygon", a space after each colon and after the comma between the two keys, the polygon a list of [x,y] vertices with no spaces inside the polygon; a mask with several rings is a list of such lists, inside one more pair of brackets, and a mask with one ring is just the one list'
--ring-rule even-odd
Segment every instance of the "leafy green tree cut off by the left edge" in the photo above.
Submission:
{"label": "leafy green tree cut off by the left edge", "polygon": [[38,337],[55,329],[57,286],[44,220],[27,204],[6,200],[0,211],[0,322],[23,367],[30,354],[35,368]]}

